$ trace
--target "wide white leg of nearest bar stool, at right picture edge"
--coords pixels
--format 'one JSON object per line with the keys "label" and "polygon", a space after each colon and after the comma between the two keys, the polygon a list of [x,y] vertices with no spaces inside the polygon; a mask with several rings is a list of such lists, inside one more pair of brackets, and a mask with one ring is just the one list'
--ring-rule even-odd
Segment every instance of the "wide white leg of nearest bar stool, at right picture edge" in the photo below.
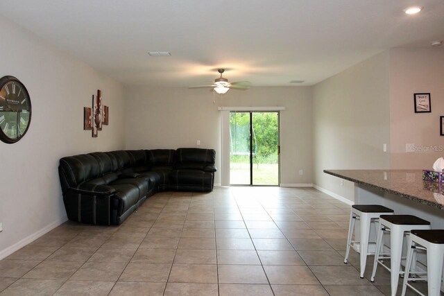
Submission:
{"label": "wide white leg of nearest bar stool, at right picture edge", "polygon": [[429,296],[441,294],[444,250],[441,245],[430,244],[427,247],[427,290]]}

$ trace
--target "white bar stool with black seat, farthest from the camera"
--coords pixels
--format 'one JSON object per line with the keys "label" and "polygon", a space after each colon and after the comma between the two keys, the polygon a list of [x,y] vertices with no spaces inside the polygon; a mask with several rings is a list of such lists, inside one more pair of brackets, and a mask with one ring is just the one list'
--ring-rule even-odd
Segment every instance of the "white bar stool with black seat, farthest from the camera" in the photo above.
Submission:
{"label": "white bar stool with black seat, farthest from the camera", "polygon": [[359,220],[359,263],[361,264],[361,278],[364,278],[364,271],[366,270],[366,261],[368,255],[368,236],[370,235],[370,223],[372,219],[376,223],[381,215],[393,214],[393,209],[388,209],[379,204],[354,204],[352,211],[350,211],[350,224],[348,226],[348,240],[347,251],[345,252],[344,263],[347,263],[350,247],[355,249],[354,244],[357,241],[352,241],[353,230],[355,229],[355,220]]}

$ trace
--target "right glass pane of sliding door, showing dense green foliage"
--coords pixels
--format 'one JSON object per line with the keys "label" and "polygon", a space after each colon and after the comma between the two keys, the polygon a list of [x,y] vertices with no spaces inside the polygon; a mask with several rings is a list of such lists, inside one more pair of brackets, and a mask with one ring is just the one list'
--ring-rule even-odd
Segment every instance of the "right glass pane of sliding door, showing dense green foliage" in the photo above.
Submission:
{"label": "right glass pane of sliding door, showing dense green foliage", "polygon": [[278,185],[278,112],[253,112],[253,184]]}

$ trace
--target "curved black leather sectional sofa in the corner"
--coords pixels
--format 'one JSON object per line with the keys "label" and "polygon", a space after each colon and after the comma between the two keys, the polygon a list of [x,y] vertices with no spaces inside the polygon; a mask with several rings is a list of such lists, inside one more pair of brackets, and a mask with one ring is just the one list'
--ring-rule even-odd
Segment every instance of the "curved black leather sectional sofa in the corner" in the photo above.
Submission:
{"label": "curved black leather sectional sofa in the corner", "polygon": [[210,192],[216,151],[178,148],[74,155],[58,167],[69,220],[119,225],[158,191]]}

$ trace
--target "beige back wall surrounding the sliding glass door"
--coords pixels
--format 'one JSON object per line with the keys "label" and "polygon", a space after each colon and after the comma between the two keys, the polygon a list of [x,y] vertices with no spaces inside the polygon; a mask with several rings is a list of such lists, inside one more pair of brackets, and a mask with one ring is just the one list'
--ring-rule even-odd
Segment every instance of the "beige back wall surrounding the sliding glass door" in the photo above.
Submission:
{"label": "beige back wall surrounding the sliding glass door", "polygon": [[[311,87],[252,87],[216,97],[207,89],[126,88],[126,148],[216,149],[221,168],[219,106],[282,106],[281,183],[311,183]],[[299,170],[304,174],[299,175]],[[220,172],[216,183],[221,182]]]}

